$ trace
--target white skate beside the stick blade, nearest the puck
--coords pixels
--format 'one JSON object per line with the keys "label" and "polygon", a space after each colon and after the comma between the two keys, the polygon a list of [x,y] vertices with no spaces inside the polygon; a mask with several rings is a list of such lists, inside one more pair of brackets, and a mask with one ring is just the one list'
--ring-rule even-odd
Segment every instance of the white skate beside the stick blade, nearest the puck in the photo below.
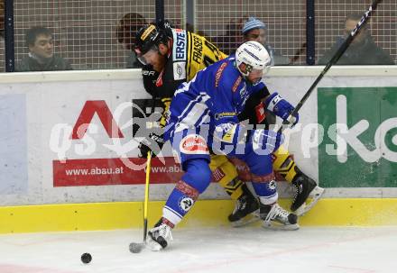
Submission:
{"label": "white skate beside the stick blade, nearest the puck", "polygon": [[162,223],[162,219],[148,232],[147,244],[153,251],[165,249],[171,240],[171,227]]}

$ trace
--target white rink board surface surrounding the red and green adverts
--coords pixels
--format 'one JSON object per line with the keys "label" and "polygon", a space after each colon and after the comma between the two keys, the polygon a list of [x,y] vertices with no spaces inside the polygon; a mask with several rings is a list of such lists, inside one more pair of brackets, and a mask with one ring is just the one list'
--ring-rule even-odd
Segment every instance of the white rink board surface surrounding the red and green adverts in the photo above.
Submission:
{"label": "white rink board surface surrounding the red and green adverts", "polygon": [[[292,105],[296,105],[304,95],[311,83],[319,75],[321,68],[275,68],[269,77],[264,80],[271,91],[278,91],[287,98]],[[319,86],[397,86],[397,69],[395,68],[363,68],[350,69],[332,68],[329,76],[323,78]],[[350,72],[349,72],[350,71]],[[358,72],[357,72],[358,71]],[[365,76],[357,76],[359,72]],[[371,72],[372,75],[371,76]],[[351,73],[354,76],[349,76]],[[292,75],[292,76],[286,76]],[[342,76],[341,76],[342,75]],[[130,102],[133,98],[149,98],[144,92],[140,71],[134,69],[124,70],[98,70],[98,71],[68,71],[68,72],[41,72],[18,73],[0,75],[0,96],[7,97],[15,94],[24,95],[26,106],[26,161],[27,177],[25,191],[14,193],[0,192],[0,205],[39,205],[60,203],[86,203],[107,201],[139,201],[143,200],[143,185],[112,185],[90,187],[53,187],[52,160],[58,159],[58,154],[51,150],[51,132],[57,124],[73,126],[87,101],[103,100],[112,114],[118,106]],[[125,138],[121,141],[131,141],[131,126],[123,128],[131,118],[131,109],[125,108],[117,121]],[[314,91],[309,100],[300,110],[301,126],[317,123],[317,92]],[[96,129],[97,128],[97,129]],[[14,129],[13,129],[14,130]],[[96,131],[97,130],[97,131]],[[98,159],[117,158],[113,150],[107,149],[104,144],[114,144],[114,139],[109,138],[97,114],[94,115],[88,132],[97,143],[93,152],[85,150],[87,146],[83,140],[71,140],[70,149],[67,150],[67,159]],[[4,138],[15,133],[6,132]],[[318,150],[307,150],[310,157],[303,156],[300,149],[301,132],[296,132],[291,138],[289,150],[293,153],[300,168],[316,180],[318,173]],[[82,146],[81,146],[82,145]],[[136,144],[137,145],[137,144]],[[78,146],[80,146],[78,148]],[[8,147],[3,147],[3,150]],[[13,152],[10,146],[7,152]],[[82,149],[83,152],[78,151]],[[85,150],[85,154],[84,154]],[[2,151],[4,152],[4,151]],[[132,149],[128,157],[135,157],[137,150]],[[18,166],[14,172],[18,173]],[[0,182],[4,182],[0,179]],[[7,181],[12,184],[13,181]],[[321,181],[319,181],[321,185]],[[170,193],[172,185],[152,185],[151,199],[164,200]],[[282,187],[282,196],[289,194]],[[336,188],[328,189],[328,197],[381,197],[386,191],[382,188]],[[387,189],[388,196],[397,196],[395,188]],[[201,198],[224,199],[227,198],[223,190],[217,185],[211,185]]]}

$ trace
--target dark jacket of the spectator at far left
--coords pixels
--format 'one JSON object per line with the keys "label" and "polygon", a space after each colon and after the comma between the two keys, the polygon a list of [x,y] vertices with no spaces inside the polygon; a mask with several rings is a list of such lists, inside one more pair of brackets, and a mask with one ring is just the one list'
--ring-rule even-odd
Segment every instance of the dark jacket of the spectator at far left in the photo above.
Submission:
{"label": "dark jacket of the spectator at far left", "polygon": [[58,56],[53,56],[51,60],[45,64],[39,63],[36,59],[28,56],[23,58],[20,64],[15,68],[17,72],[23,71],[53,71],[53,70],[71,70],[69,61]]}

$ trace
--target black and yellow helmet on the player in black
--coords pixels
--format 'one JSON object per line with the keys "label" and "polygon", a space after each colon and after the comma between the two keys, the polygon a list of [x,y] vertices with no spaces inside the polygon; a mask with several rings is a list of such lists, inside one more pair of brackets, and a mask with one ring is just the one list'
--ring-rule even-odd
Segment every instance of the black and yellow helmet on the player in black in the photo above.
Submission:
{"label": "black and yellow helmet on the player in black", "polygon": [[147,51],[157,47],[161,42],[168,40],[164,29],[155,24],[144,25],[138,32],[136,32],[135,53],[142,56]]}

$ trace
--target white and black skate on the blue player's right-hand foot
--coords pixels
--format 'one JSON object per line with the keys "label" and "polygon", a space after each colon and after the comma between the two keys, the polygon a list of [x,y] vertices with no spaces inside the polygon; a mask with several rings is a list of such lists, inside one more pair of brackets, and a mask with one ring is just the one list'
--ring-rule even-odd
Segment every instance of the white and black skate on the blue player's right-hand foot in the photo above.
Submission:
{"label": "white and black skate on the blue player's right-hand foot", "polygon": [[277,203],[274,205],[261,204],[260,211],[264,228],[284,231],[296,231],[300,228],[298,216],[287,212]]}

